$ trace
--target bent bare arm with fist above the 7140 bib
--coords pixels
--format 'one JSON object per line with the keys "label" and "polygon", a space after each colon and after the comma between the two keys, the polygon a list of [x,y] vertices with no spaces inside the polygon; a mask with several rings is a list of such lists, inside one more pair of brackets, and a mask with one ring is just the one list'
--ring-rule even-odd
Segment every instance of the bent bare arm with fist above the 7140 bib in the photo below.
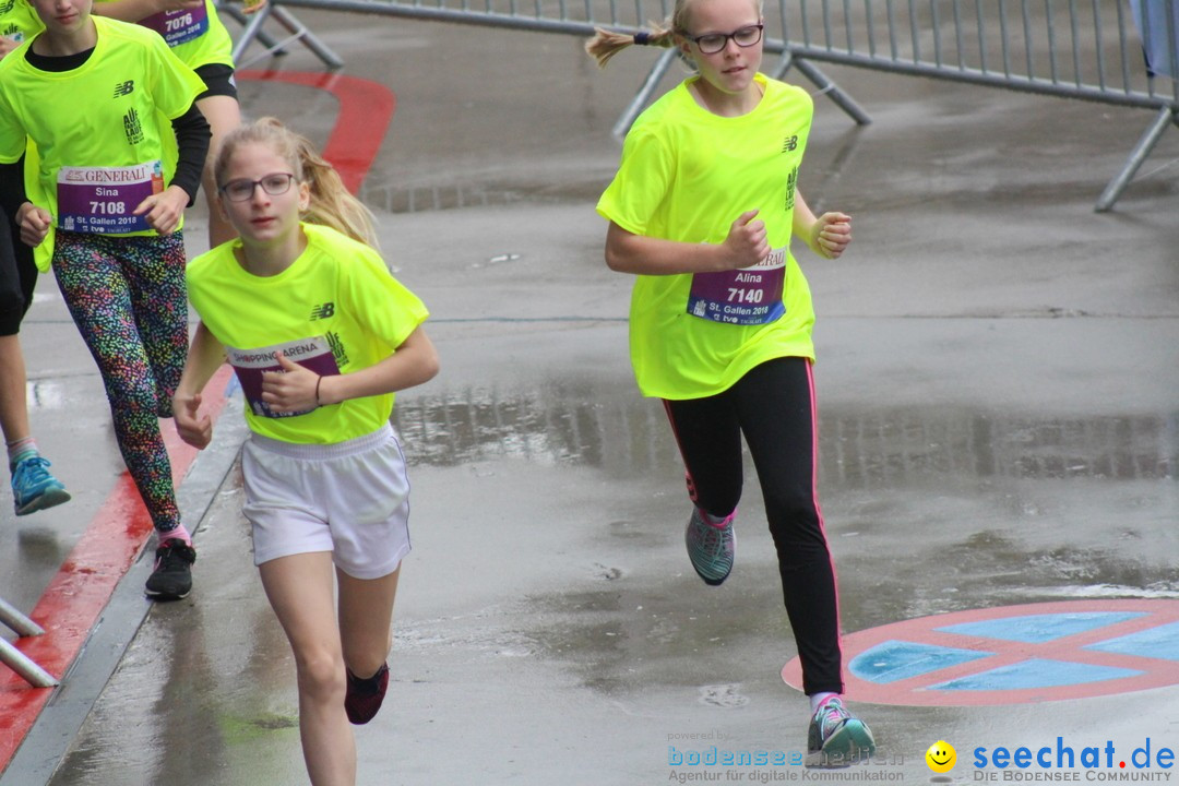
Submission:
{"label": "bent bare arm with fist above the 7140 bib", "polygon": [[621,273],[671,276],[749,267],[765,259],[770,245],[756,210],[742,213],[724,243],[681,243],[628,232],[614,222],[606,230],[606,265]]}

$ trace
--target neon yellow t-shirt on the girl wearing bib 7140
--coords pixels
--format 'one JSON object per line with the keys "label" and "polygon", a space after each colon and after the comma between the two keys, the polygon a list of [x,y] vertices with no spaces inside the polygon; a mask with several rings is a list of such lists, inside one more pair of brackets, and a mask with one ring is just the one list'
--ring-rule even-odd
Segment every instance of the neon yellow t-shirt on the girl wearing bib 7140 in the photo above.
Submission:
{"label": "neon yellow t-shirt on the girl wearing bib 7140", "polygon": [[[789,251],[814,103],[805,91],[757,74],[764,90],[757,107],[742,117],[720,117],[692,98],[687,86],[696,79],[639,115],[598,212],[634,235],[722,243],[738,216],[759,210],[770,247],[780,252],[775,258],[782,285],[744,295],[756,295],[756,304],[763,297],[780,300],[784,313],[764,324],[725,324],[690,306],[700,280],[692,275],[638,276],[631,296],[631,363],[644,396],[668,399],[723,392],[776,357],[815,356],[810,288]],[[727,291],[742,295],[737,288]],[[757,311],[737,304],[731,310]]]}

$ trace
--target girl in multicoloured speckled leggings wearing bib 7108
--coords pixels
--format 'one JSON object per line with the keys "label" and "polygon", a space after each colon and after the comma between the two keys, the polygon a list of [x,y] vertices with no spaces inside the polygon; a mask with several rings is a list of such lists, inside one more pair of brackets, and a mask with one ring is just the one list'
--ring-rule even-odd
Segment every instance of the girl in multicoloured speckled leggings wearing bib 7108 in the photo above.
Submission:
{"label": "girl in multicoloured speckled leggings wearing bib 7108", "polygon": [[0,164],[29,141],[40,154],[26,167],[21,239],[52,265],[103,375],[158,536],[147,595],[184,597],[196,551],[158,418],[172,414],[187,344],[180,227],[209,150],[193,106],[205,86],[156,33],[92,16],[92,0],[31,5],[45,31],[0,60]]}

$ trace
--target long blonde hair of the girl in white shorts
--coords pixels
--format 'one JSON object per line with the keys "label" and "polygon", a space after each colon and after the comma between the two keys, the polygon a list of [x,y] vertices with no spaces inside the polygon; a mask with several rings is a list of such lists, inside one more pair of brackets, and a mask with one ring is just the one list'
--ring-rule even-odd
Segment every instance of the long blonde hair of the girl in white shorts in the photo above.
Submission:
{"label": "long blonde hair of the girl in white shorts", "polygon": [[311,224],[331,229],[378,249],[373,213],[344,187],[340,173],[332,169],[303,134],[284,126],[277,118],[258,118],[233,128],[220,144],[213,164],[217,186],[225,184],[230,159],[242,145],[268,145],[290,164],[295,179],[307,183],[311,191],[310,205],[303,218]]}

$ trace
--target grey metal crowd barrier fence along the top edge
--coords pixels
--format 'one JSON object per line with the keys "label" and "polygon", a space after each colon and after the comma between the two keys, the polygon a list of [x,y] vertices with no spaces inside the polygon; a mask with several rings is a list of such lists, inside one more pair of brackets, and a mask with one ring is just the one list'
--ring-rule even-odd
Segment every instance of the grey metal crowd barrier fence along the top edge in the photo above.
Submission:
{"label": "grey metal crowd barrier fence along the top edge", "polygon": [[[671,9],[670,0],[271,1],[578,37],[595,27],[637,32]],[[868,113],[816,62],[1155,110],[1099,211],[1179,125],[1179,0],[771,0],[765,21],[765,51],[779,55],[768,73],[796,68],[859,124]],[[243,35],[238,47],[249,44]],[[664,51],[615,133],[630,127],[676,57]]]}

